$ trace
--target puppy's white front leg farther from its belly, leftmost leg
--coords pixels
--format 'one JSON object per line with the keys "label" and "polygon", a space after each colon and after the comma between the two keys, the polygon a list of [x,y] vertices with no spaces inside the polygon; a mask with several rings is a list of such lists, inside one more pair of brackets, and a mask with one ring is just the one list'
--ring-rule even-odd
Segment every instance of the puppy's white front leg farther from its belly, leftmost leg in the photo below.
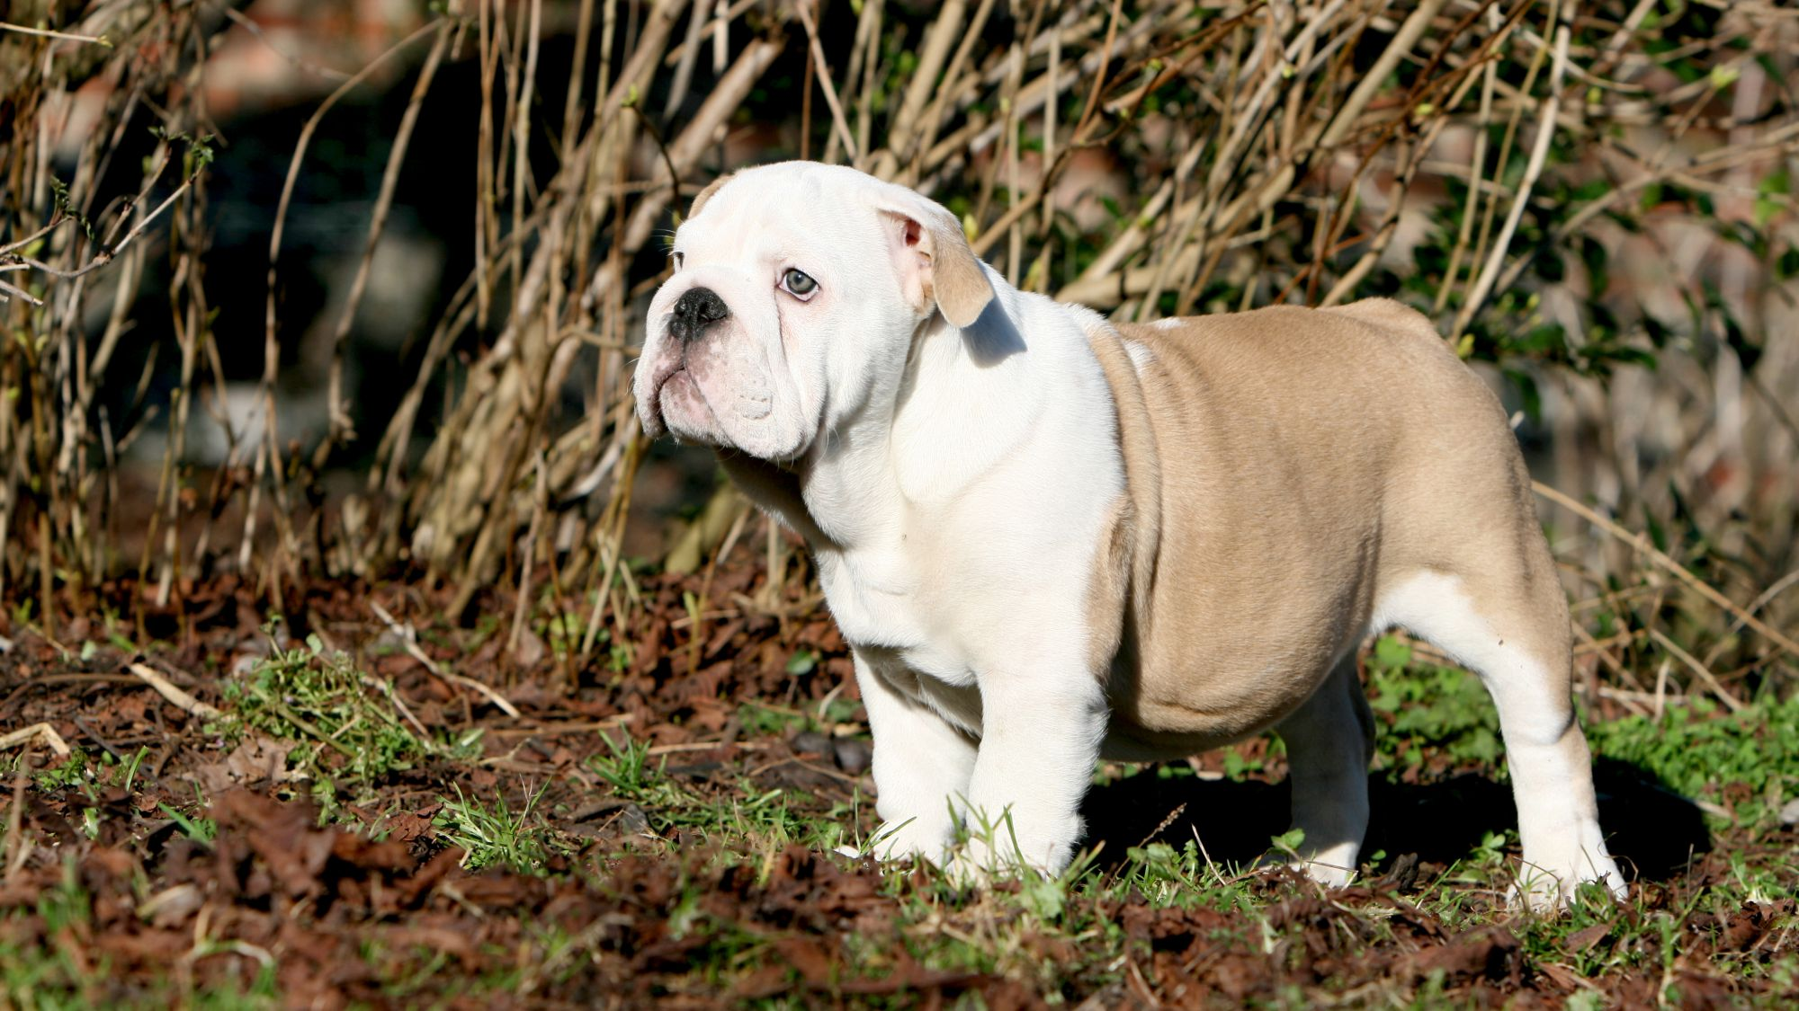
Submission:
{"label": "puppy's white front leg farther from its belly, leftmost leg", "polygon": [[923,856],[943,862],[955,837],[952,804],[968,793],[975,743],[921,702],[894,691],[855,651],[856,687],[874,732],[874,811],[882,817],[869,851],[882,860]]}

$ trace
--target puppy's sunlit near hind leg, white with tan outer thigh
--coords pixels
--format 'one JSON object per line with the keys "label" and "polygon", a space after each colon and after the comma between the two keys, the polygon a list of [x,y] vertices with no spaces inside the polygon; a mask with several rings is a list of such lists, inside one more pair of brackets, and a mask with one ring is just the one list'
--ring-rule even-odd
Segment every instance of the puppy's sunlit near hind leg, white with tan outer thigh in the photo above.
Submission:
{"label": "puppy's sunlit near hind leg, white with tan outer thigh", "polygon": [[1524,842],[1513,899],[1554,908],[1583,881],[1623,898],[1574,718],[1567,604],[1547,549],[1526,545],[1522,554],[1513,572],[1416,572],[1374,606],[1472,669],[1493,696]]}

